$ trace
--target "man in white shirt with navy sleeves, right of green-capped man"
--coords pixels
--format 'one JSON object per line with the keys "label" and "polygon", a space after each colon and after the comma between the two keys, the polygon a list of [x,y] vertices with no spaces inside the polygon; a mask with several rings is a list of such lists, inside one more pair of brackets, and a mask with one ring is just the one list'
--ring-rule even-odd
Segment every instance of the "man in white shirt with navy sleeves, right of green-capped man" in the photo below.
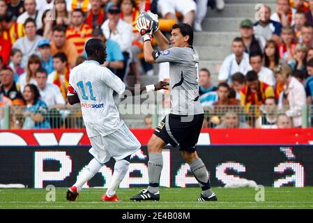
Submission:
{"label": "man in white shirt with navy sleeves, right of green-capped man", "polygon": [[264,6],[259,10],[259,22],[254,23],[254,35],[263,36],[266,40],[280,40],[282,24],[270,20],[270,7]]}

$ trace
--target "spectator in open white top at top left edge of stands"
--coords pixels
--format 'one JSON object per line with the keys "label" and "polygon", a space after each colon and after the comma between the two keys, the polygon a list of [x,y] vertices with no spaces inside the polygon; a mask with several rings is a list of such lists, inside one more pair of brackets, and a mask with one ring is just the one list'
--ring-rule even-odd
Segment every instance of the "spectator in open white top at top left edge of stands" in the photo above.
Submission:
{"label": "spectator in open white top at top left edge of stands", "polygon": [[36,23],[36,29],[40,29],[43,26],[41,21],[43,13],[36,10],[36,0],[24,0],[25,12],[17,17],[17,22],[25,24],[26,20],[31,17]]}

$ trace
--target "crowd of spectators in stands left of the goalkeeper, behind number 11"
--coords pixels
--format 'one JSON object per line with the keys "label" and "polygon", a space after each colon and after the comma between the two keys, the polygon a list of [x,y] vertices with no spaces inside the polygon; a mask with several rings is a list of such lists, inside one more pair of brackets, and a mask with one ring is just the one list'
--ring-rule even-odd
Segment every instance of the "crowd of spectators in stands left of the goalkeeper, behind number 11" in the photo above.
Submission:
{"label": "crowd of spectators in stands left of the goalkeeper, behind number 11", "polygon": [[11,109],[20,116],[11,127],[53,128],[47,112],[68,104],[70,70],[86,60],[89,38],[107,45],[103,66],[140,84],[153,67],[143,59],[139,14],[158,13],[161,31],[178,20],[201,31],[208,5],[222,10],[224,0],[0,0],[0,107],[24,105]]}

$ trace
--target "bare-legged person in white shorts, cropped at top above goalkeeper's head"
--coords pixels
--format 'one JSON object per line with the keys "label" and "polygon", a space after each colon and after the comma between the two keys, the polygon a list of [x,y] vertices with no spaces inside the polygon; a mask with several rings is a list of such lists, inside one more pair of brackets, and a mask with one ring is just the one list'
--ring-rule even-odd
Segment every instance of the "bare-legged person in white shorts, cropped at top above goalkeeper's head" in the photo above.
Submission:
{"label": "bare-legged person in white shorts, cropped at top above goalkeeper's head", "polygon": [[192,0],[158,0],[158,12],[165,20],[176,20],[176,11],[183,15],[183,23],[188,23],[190,26],[194,23],[197,5]]}

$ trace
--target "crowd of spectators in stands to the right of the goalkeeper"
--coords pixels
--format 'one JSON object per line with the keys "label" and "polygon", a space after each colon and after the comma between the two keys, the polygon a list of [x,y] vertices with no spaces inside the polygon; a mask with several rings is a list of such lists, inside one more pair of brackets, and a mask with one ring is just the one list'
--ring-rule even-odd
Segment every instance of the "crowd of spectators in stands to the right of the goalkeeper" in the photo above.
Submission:
{"label": "crowd of spectators in stands to the right of the goalkeeper", "polygon": [[[210,71],[199,72],[200,100],[209,114],[204,127],[303,126],[303,108],[313,100],[313,1],[277,0],[275,11],[264,6],[258,15],[238,27],[217,87]],[[228,109],[220,112],[221,105]]]}

